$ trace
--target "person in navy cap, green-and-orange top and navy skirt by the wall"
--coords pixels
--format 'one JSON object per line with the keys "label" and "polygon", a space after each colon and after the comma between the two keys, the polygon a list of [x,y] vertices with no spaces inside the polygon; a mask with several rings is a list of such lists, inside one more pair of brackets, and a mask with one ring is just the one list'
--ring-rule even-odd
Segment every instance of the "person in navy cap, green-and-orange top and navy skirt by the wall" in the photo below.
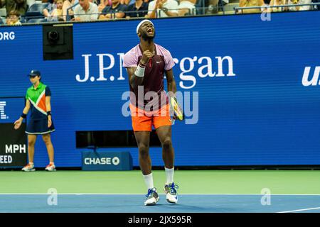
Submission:
{"label": "person in navy cap, green-and-orange top and navy skirt by the wall", "polygon": [[20,128],[23,118],[26,118],[28,111],[31,110],[30,121],[26,127],[29,162],[22,170],[26,172],[36,170],[33,163],[34,145],[37,135],[42,135],[50,160],[45,170],[55,171],[55,164],[53,162],[54,151],[50,139],[50,133],[55,131],[51,118],[51,92],[49,87],[41,82],[41,73],[39,71],[32,70],[30,74],[28,74],[28,77],[30,77],[32,86],[29,87],[26,92],[26,106],[23,109],[21,117],[14,122],[14,128]]}

